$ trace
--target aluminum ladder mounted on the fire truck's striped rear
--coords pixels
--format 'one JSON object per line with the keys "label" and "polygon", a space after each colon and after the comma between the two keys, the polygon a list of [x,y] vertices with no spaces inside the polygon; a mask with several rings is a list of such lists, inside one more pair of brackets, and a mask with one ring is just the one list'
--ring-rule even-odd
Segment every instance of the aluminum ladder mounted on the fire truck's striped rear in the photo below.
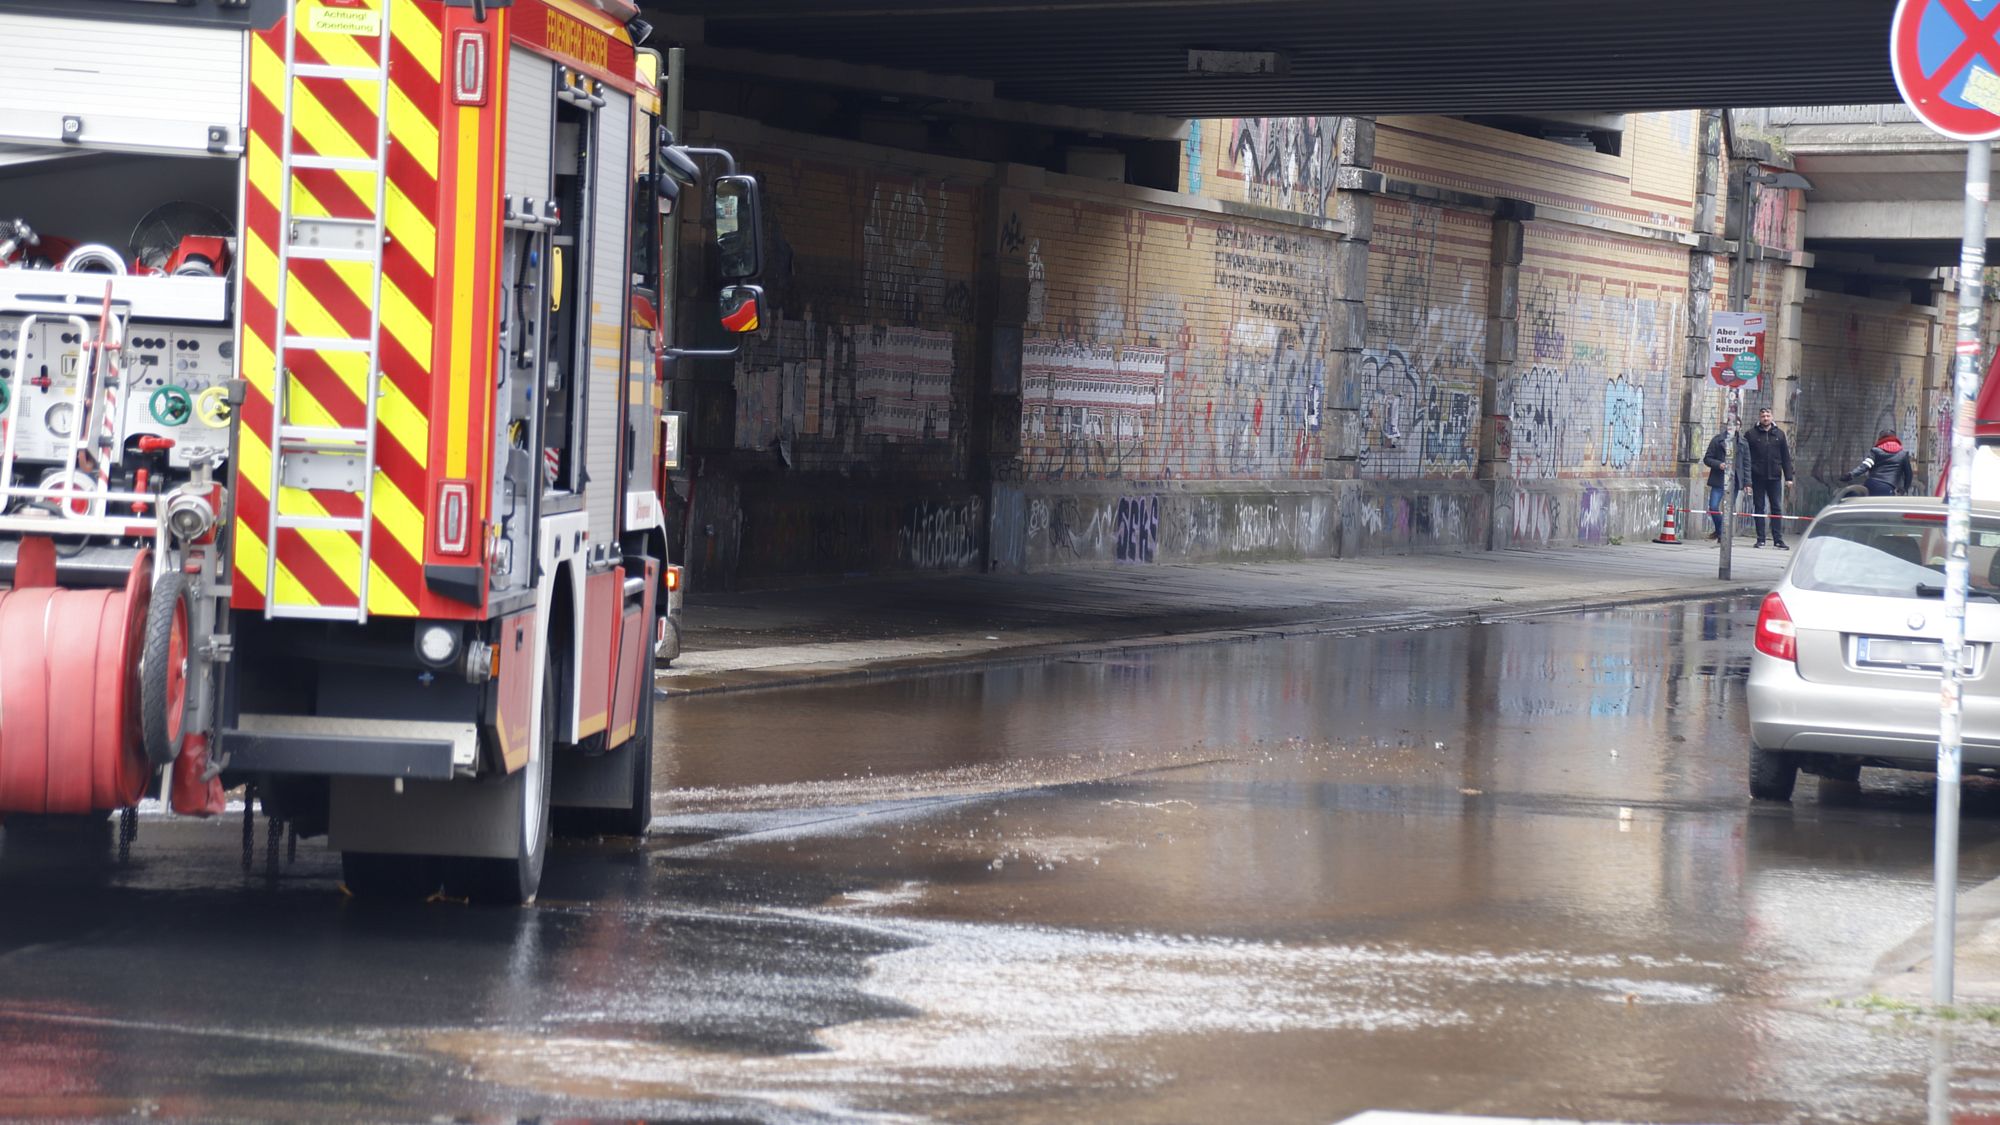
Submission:
{"label": "aluminum ladder mounted on the fire truck's striped rear", "polygon": [[[374,478],[376,478],[376,404],[382,394],[382,248],[388,242],[388,104],[390,104],[390,0],[374,4],[376,14],[376,58],[374,66],[330,66],[322,62],[300,62],[298,24],[310,8],[298,0],[288,4],[290,18],[284,30],[284,142],[280,146],[280,198],[278,198],[278,286],[276,286],[276,328],[272,358],[272,442],[270,442],[270,498],[264,534],[264,617],[266,619],[316,619],[316,621],[368,621],[368,571],[374,548]],[[296,110],[300,90],[310,94],[314,84],[374,82],[374,154],[368,156],[326,156],[318,152],[298,152]],[[324,102],[322,102],[324,104]],[[308,216],[294,214],[298,194],[298,174],[326,170],[348,172],[374,178],[374,212],[368,216]],[[358,262],[374,278],[374,298],[368,302],[366,336],[300,336],[292,332],[286,318],[286,298],[296,284],[292,262]],[[294,354],[360,354],[366,362],[366,380],[360,388],[366,422],[352,426],[304,426],[290,420],[292,370],[286,362]],[[286,512],[282,504],[284,488],[310,488],[312,492],[346,492],[360,498],[360,514],[302,514]],[[360,536],[360,560],[350,579],[354,605],[284,603],[278,599],[278,542],[280,532],[334,532]]]}

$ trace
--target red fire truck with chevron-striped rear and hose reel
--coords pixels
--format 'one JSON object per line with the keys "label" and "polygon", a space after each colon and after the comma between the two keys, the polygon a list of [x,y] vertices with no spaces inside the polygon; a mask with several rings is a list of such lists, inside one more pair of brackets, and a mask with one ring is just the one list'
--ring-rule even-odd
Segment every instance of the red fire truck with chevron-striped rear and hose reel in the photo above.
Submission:
{"label": "red fire truck with chevron-striped rear and hose reel", "polygon": [[684,188],[722,326],[760,298],[646,32],[0,0],[0,817],[244,785],[358,895],[502,903],[552,807],[644,833]]}

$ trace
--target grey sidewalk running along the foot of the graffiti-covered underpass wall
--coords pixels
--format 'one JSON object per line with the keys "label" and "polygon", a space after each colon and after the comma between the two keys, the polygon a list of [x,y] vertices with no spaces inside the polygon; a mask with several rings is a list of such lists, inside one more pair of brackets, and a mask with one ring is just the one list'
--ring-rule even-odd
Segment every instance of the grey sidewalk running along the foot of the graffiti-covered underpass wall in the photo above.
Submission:
{"label": "grey sidewalk running along the foot of the graffiti-covered underpass wall", "polygon": [[690,595],[664,695],[892,677],[1204,641],[1368,633],[1760,593],[1790,560],[1738,542],[906,577]]}

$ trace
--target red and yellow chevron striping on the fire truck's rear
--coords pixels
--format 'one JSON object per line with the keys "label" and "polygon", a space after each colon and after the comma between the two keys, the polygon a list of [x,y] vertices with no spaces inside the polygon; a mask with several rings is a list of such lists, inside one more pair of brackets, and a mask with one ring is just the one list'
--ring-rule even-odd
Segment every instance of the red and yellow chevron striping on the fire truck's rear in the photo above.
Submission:
{"label": "red and yellow chevron striping on the fire truck's rear", "polygon": [[[316,18],[316,12],[340,18]],[[356,12],[388,14],[388,246],[380,292],[380,398],[376,402],[374,528],[368,560],[368,613],[386,617],[468,617],[480,611],[424,589],[428,508],[442,478],[482,478],[472,470],[486,452],[482,440],[490,386],[490,356],[474,338],[492,338],[492,244],[498,202],[492,198],[494,100],[452,106],[446,90],[446,42],[460,12],[418,0],[298,0],[298,62],[374,68],[380,40],[352,34],[380,26]],[[470,24],[468,24],[470,26]],[[504,36],[498,28],[490,34]],[[504,38],[500,38],[504,42]],[[244,210],[242,374],[248,396],[240,416],[236,460],[236,587],[238,609],[262,609],[266,552],[278,552],[276,597],[284,605],[352,607],[358,599],[360,534],[346,530],[282,530],[266,542],[270,504],[284,514],[356,516],[360,496],[344,492],[270,490],[272,436],[278,420],[274,342],[278,306],[280,202],[290,192],[294,216],[370,218],[372,172],[296,170],[286,176],[284,66],[286,28],[252,38],[250,136]],[[374,158],[376,80],[290,78],[292,150],[296,154]],[[470,166],[468,166],[470,164]],[[482,202],[474,202],[482,200]],[[440,224],[444,226],[440,230]],[[442,258],[442,260],[440,260]],[[442,266],[442,268],[440,268]],[[298,336],[366,336],[374,302],[374,270],[356,262],[292,260],[286,320]],[[484,298],[480,296],[484,294]],[[484,336],[476,334],[484,332]],[[366,354],[288,352],[292,370],[288,422],[362,426],[368,386]],[[442,408],[442,410],[440,410]],[[440,456],[446,452],[446,456]],[[448,464],[446,464],[448,462]],[[484,518],[482,488],[474,486],[470,526]]]}

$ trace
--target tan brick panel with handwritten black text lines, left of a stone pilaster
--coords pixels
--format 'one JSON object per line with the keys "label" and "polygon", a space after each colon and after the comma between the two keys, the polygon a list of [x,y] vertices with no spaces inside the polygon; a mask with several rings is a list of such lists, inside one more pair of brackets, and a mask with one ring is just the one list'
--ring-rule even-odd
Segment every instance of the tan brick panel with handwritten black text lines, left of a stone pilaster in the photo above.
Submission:
{"label": "tan brick panel with handwritten black text lines, left of a stone pilaster", "polygon": [[1320,476],[1330,236],[1054,192],[1018,218],[1028,480]]}

